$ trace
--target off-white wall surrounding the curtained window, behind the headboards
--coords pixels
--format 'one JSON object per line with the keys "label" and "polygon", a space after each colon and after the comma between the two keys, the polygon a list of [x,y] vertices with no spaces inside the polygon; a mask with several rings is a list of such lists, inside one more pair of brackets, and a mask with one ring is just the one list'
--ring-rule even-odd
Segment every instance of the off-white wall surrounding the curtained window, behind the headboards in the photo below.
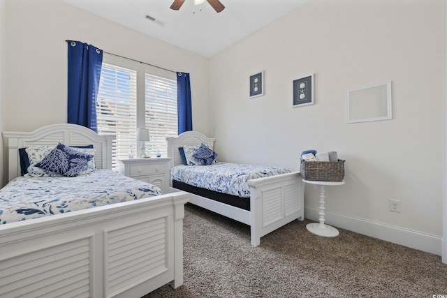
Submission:
{"label": "off-white wall surrounding the curtained window, behind the headboards", "polygon": [[193,127],[208,133],[208,59],[57,0],[6,0],[6,130],[66,123],[67,45],[191,74]]}

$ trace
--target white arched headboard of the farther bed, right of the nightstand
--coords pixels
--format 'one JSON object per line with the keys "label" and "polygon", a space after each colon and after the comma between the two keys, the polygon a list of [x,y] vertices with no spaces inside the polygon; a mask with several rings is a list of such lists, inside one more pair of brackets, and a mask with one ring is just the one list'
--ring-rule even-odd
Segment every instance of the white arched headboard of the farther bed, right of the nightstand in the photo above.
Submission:
{"label": "white arched headboard of the farther bed, right of the nightstand", "polygon": [[185,131],[177,137],[166,137],[166,140],[168,141],[168,157],[173,158],[173,165],[183,165],[179,147],[183,147],[184,145],[200,145],[203,143],[213,149],[216,139],[205,137],[203,133],[199,133],[198,131]]}

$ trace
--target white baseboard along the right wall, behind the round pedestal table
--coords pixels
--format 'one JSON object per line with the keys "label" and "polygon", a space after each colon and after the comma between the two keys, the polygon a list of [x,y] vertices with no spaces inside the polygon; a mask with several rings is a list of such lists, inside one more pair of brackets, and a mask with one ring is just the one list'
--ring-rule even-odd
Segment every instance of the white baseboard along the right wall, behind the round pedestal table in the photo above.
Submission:
{"label": "white baseboard along the right wall, behind the round pedestal table", "polygon": [[[305,207],[305,218],[311,221],[318,221],[318,211],[318,209]],[[427,253],[441,255],[442,238],[431,234],[424,234],[393,225],[377,223],[362,218],[353,218],[328,211],[325,211],[325,223],[333,225],[335,228],[350,230]]]}

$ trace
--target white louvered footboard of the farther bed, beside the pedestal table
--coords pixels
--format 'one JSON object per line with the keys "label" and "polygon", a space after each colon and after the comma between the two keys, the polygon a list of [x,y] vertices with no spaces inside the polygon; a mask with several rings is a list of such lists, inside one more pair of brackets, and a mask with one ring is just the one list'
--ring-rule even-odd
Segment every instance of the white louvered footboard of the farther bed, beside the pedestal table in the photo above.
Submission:
{"label": "white louvered footboard of the farther bed, beside the pedestal table", "polygon": [[252,179],[250,186],[251,245],[300,218],[304,220],[304,185],[299,172]]}

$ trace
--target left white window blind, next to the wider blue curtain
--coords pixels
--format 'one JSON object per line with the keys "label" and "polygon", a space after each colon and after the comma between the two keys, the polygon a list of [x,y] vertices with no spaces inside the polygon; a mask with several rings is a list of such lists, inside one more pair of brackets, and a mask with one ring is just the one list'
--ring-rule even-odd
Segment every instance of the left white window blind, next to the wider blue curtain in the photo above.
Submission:
{"label": "left white window blind, next to the wider blue curtain", "polygon": [[98,134],[115,135],[112,168],[117,159],[127,159],[136,148],[136,71],[103,63],[99,83],[96,115]]}

